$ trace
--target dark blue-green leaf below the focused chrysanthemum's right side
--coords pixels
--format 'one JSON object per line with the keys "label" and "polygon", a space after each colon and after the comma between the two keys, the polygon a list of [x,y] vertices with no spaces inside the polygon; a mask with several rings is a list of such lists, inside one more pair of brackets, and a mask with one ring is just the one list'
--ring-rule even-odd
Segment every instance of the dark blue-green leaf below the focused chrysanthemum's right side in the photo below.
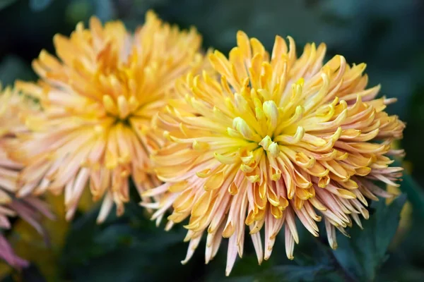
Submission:
{"label": "dark blue-green leaf below the focused chrysanthemum's right side", "polygon": [[334,256],[351,278],[374,281],[377,270],[387,259],[387,247],[396,233],[405,202],[406,195],[400,195],[389,205],[384,200],[374,202],[375,213],[363,221],[363,230],[358,226],[351,228],[351,238],[338,233]]}

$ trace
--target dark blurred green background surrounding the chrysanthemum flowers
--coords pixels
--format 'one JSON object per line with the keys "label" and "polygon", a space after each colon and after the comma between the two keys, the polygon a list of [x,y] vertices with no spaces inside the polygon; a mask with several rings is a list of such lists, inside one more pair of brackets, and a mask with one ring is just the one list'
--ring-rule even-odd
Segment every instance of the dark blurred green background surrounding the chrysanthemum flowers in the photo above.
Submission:
{"label": "dark blurred green background surrounding the chrysanthemum flowers", "polygon": [[[350,63],[367,63],[370,85],[396,97],[390,114],[406,121],[401,196],[389,206],[373,204],[365,231],[338,238],[332,252],[325,238],[301,232],[295,261],[285,258],[278,238],[268,262],[257,266],[247,240],[245,257],[228,281],[424,281],[424,1],[420,0],[0,0],[0,81],[37,79],[31,61],[41,49],[54,53],[52,37],[69,35],[76,23],[98,16],[122,20],[130,30],[153,8],[163,20],[195,25],[204,47],[224,54],[244,30],[271,49],[275,35],[291,35],[299,50],[325,42],[327,57],[343,54]],[[389,188],[393,190],[394,188]],[[97,205],[82,201],[76,219],[63,219],[62,200],[47,195],[58,214],[46,221],[50,242],[17,220],[8,232],[19,255],[33,262],[13,271],[0,262],[0,281],[223,281],[225,244],[204,264],[204,243],[185,266],[184,230],[165,232],[131,202],[122,218],[95,225]],[[136,195],[135,195],[136,197]],[[399,213],[401,221],[399,222]],[[301,229],[301,228],[299,228]]]}

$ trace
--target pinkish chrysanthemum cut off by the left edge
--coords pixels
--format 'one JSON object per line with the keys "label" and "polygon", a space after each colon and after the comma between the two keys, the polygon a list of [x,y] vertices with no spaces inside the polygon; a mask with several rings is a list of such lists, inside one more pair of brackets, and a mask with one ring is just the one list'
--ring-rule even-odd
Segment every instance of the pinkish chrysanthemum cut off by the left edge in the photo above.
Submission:
{"label": "pinkish chrysanthemum cut off by the left edge", "polygon": [[22,165],[8,158],[6,148],[9,147],[8,143],[16,140],[17,134],[26,130],[20,121],[21,114],[35,112],[28,103],[30,102],[27,99],[10,88],[0,93],[0,259],[4,259],[17,268],[27,266],[28,262],[13,252],[11,245],[2,234],[3,231],[11,228],[8,217],[20,216],[41,234],[45,234],[45,231],[38,221],[39,215],[44,214],[50,219],[53,218],[46,204],[36,197],[22,199],[14,197],[18,171]]}

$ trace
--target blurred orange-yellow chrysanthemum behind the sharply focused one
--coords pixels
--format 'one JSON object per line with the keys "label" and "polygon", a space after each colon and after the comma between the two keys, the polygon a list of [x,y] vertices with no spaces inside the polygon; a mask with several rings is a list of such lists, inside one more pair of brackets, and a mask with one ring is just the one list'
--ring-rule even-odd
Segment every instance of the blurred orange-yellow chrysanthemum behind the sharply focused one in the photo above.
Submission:
{"label": "blurred orange-yellow chrysanthemum behind the sharply focused one", "polygon": [[139,192],[160,182],[150,176],[148,155],[163,145],[151,127],[172,96],[175,80],[200,66],[201,37],[180,31],[153,12],[131,35],[123,23],[90,19],[71,36],[54,37],[56,57],[41,51],[33,61],[40,81],[17,87],[40,100],[42,113],[29,116],[32,130],[13,157],[26,165],[19,195],[64,190],[66,218],[89,183],[93,200],[103,199],[98,221],[117,214],[129,200],[129,178]]}

